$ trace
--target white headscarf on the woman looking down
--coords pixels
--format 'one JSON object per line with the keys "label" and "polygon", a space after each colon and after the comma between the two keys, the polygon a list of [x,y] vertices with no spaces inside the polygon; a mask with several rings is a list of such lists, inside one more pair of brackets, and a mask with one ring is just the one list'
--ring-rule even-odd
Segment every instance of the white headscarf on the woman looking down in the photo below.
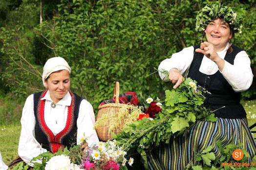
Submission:
{"label": "white headscarf on the woman looking down", "polygon": [[48,59],[43,66],[43,75],[42,75],[43,86],[46,87],[44,81],[51,73],[53,73],[55,71],[62,70],[62,69],[67,70],[69,72],[69,74],[71,73],[71,68],[68,66],[68,64],[67,64],[66,60],[64,60],[64,58],[53,57],[53,58]]}

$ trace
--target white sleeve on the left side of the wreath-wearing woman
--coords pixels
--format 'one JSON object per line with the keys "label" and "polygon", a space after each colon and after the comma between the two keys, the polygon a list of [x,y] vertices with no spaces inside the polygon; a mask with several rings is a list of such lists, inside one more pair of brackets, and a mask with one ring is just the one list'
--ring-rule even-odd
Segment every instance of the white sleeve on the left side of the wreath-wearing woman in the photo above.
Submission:
{"label": "white sleeve on the left side of the wreath-wearing woman", "polygon": [[[183,74],[191,65],[192,60],[193,60],[193,51],[194,47],[187,47],[184,48],[182,51],[176,52],[171,55],[171,58],[167,58],[163,60],[159,67],[158,70],[167,70],[169,71],[171,68],[177,68],[181,74]],[[159,71],[159,76],[161,77],[162,80],[164,81],[170,81],[169,78],[162,74]]]}

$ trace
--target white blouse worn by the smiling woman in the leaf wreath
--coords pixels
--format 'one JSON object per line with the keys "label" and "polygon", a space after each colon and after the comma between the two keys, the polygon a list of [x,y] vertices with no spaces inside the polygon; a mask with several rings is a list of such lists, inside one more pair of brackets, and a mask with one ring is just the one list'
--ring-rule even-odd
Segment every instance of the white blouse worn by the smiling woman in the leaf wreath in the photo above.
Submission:
{"label": "white blouse worn by the smiling woman in the leaf wreath", "polygon": [[[218,51],[217,54],[220,58],[224,59],[229,43],[223,51]],[[171,68],[177,68],[181,74],[184,74],[185,71],[190,67],[194,55],[194,47],[184,48],[182,51],[172,54],[171,58],[163,60],[158,70],[165,69],[169,71]],[[240,51],[235,56],[234,65],[225,61],[225,65],[220,73],[232,86],[234,91],[241,92],[247,90],[253,82],[253,72],[250,67],[251,60],[245,51]],[[218,71],[218,66],[211,59],[207,58],[205,55],[203,57],[199,71],[212,75]],[[159,76],[164,81],[170,81],[167,76],[159,72]]]}

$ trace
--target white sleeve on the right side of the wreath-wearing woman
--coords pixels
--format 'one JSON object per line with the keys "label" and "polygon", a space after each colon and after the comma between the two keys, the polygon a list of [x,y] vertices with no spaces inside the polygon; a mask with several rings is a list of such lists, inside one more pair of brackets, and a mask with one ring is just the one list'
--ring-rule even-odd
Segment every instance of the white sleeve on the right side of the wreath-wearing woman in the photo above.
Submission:
{"label": "white sleeve on the right side of the wreath-wearing woman", "polygon": [[236,54],[234,65],[225,61],[221,74],[234,91],[245,91],[252,85],[254,75],[250,65],[251,60],[245,51]]}

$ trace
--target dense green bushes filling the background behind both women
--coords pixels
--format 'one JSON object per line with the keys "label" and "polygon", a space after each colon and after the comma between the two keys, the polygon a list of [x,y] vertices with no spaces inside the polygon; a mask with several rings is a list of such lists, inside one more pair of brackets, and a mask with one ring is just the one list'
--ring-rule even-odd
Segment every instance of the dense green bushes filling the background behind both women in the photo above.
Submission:
{"label": "dense green bushes filling the background behind both women", "polygon": [[[4,86],[1,89],[19,98],[43,90],[40,74],[44,62],[49,57],[61,56],[72,68],[71,90],[85,97],[94,108],[112,97],[115,81],[120,82],[121,92],[142,91],[163,98],[162,88],[170,89],[170,85],[161,82],[156,74],[147,75],[172,53],[200,43],[197,37],[201,34],[194,30],[195,16],[209,2],[42,1],[42,24],[39,0],[17,0],[17,4],[8,0],[13,7],[3,10],[6,25],[0,31],[0,86]],[[8,3],[1,2],[0,11],[8,9]],[[243,34],[236,35],[233,41],[246,50],[255,68],[254,0],[225,3],[246,10]],[[28,67],[21,56],[33,67]],[[244,94],[247,98],[256,96],[254,90]]]}

